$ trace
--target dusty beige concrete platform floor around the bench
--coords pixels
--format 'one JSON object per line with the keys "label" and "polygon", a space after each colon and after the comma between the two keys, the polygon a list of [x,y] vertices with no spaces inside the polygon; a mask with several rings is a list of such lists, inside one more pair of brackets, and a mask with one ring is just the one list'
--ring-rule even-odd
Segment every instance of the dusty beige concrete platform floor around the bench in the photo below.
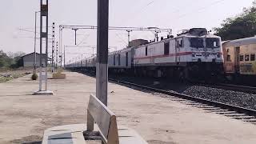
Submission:
{"label": "dusty beige concrete platform floor around the bench", "polygon": [[[86,123],[95,78],[67,72],[66,79],[48,82],[54,95],[32,95],[38,81],[30,75],[0,83],[0,143],[40,143],[47,128]],[[118,125],[133,128],[150,144],[256,142],[256,125],[248,122],[111,82],[108,93]]]}

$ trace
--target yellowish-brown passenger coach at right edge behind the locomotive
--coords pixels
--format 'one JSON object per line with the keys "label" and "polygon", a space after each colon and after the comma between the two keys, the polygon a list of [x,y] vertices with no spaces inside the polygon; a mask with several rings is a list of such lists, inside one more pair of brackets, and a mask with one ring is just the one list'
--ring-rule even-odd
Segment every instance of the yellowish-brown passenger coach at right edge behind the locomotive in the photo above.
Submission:
{"label": "yellowish-brown passenger coach at right edge behind the locomotive", "polygon": [[224,68],[230,80],[256,79],[256,37],[223,42]]}

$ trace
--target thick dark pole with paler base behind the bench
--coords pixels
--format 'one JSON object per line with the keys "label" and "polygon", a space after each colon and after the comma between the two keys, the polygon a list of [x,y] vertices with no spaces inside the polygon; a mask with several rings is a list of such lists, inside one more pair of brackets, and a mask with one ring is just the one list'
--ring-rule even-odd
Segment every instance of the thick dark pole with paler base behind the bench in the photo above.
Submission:
{"label": "thick dark pole with paler base behind the bench", "polygon": [[107,106],[109,0],[98,0],[96,96]]}

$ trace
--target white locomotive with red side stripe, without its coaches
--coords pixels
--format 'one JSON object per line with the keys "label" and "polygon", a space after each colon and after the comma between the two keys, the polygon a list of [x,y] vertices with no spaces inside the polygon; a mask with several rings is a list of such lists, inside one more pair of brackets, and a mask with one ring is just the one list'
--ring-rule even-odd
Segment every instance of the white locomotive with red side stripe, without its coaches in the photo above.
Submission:
{"label": "white locomotive with red side stripe, without its coaches", "polygon": [[134,50],[136,74],[157,77],[207,79],[223,69],[221,38],[206,29],[194,28]]}

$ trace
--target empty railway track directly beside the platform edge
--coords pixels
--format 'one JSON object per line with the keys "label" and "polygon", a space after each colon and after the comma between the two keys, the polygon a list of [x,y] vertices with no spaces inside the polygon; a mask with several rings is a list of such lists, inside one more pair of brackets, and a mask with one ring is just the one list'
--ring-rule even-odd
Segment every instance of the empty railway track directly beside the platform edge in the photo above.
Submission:
{"label": "empty railway track directly beside the platform edge", "polygon": [[231,106],[222,102],[213,102],[203,98],[195,98],[186,94],[179,94],[174,91],[160,90],[150,86],[142,86],[132,82],[125,82],[109,78],[111,82],[116,82],[125,86],[134,86],[144,90],[150,90],[160,94],[169,95],[174,101],[185,103],[186,105],[194,106],[207,112],[222,114],[230,118],[242,120],[243,122],[250,122],[256,125],[256,110],[250,110],[238,106]]}

